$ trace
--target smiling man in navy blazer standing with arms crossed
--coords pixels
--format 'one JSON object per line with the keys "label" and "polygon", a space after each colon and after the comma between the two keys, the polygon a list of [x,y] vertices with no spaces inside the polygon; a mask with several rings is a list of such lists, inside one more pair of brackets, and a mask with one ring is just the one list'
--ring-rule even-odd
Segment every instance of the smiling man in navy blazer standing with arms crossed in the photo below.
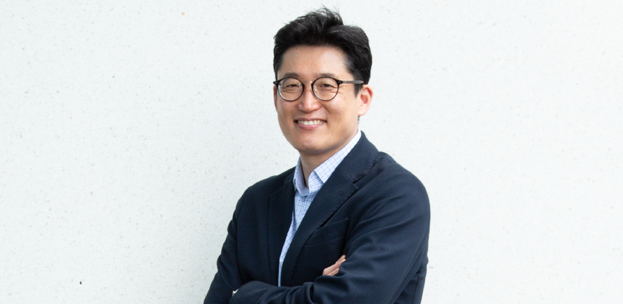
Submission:
{"label": "smiling man in navy blazer standing with arms crossed", "polygon": [[274,52],[279,127],[300,158],[238,201],[204,303],[420,303],[429,201],[358,129],[367,36],[323,8],[282,27]]}

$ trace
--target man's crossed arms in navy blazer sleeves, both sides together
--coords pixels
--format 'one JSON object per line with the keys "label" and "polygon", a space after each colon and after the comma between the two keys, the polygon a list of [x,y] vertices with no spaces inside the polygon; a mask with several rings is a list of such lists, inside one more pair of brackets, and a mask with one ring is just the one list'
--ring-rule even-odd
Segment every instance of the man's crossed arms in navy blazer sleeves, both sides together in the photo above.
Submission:
{"label": "man's crossed arms in navy blazer sleeves, both sides together", "polygon": [[[418,203],[418,199],[426,201]],[[369,207],[349,233],[344,248],[346,255],[327,267],[315,281],[292,287],[241,281],[234,217],[230,223],[234,229],[229,231],[223,246],[218,273],[205,303],[395,303],[407,284],[413,284],[414,280],[417,284],[418,277],[423,286],[429,229],[427,197],[425,192],[422,196],[422,193],[402,191]],[[213,291],[215,284],[220,291]],[[418,288],[421,296],[421,287]],[[232,296],[233,290],[237,293]],[[216,293],[219,295],[215,296]]]}

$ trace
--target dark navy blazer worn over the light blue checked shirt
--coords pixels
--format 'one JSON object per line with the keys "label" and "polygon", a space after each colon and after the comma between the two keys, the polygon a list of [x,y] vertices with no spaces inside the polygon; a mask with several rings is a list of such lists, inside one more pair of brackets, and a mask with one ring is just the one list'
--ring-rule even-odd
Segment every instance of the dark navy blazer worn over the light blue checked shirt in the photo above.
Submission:
{"label": "dark navy blazer worn over the light blue checked shirt", "polygon": [[[293,176],[294,168],[244,192],[204,303],[420,303],[428,262],[426,190],[363,133],[303,217],[277,286]],[[339,272],[323,276],[343,254]]]}

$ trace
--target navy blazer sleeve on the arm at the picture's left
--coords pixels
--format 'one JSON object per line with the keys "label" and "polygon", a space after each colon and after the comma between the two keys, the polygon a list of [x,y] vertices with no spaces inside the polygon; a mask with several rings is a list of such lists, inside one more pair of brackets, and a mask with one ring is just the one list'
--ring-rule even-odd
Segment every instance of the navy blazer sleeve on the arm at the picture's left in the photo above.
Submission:
{"label": "navy blazer sleeve on the arm at the picture's left", "polygon": [[[245,192],[246,194],[246,192]],[[214,275],[208,295],[203,304],[225,304],[232,298],[232,291],[242,285],[242,279],[238,269],[238,242],[237,227],[238,216],[244,195],[239,199],[234,216],[227,226],[227,237],[223,243],[221,253],[216,261],[217,272]]]}

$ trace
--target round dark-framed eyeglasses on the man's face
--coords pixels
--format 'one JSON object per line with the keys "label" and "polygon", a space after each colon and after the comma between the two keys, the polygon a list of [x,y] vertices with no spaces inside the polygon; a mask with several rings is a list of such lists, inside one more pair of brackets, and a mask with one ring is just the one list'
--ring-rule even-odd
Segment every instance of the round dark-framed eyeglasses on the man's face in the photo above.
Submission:
{"label": "round dark-framed eyeglasses on the man's face", "polygon": [[[295,101],[303,95],[305,85],[296,78],[287,77],[272,82],[277,86],[277,91],[282,99],[287,101]],[[312,82],[312,91],[317,99],[322,101],[330,101],[337,96],[340,84],[363,84],[362,80],[336,80],[332,77],[320,77]]]}

